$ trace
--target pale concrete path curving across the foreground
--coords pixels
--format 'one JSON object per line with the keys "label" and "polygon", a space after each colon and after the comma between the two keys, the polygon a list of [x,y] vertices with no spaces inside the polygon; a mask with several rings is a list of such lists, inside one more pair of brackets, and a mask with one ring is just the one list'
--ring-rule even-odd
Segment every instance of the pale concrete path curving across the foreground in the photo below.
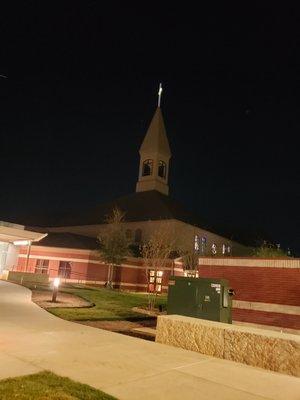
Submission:
{"label": "pale concrete path curving across the foreground", "polygon": [[0,281],[0,378],[44,369],[124,400],[300,400],[299,378],[63,321]]}

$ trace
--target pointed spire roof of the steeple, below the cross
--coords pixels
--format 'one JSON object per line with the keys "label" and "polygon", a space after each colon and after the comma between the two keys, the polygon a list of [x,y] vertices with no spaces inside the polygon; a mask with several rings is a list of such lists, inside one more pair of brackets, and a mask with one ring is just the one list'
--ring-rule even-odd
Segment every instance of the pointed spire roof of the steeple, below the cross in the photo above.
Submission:
{"label": "pointed spire roof of the steeple, below the cross", "polygon": [[140,147],[140,153],[159,153],[171,157],[171,150],[166,134],[161,109],[158,107],[153,115],[146,136]]}

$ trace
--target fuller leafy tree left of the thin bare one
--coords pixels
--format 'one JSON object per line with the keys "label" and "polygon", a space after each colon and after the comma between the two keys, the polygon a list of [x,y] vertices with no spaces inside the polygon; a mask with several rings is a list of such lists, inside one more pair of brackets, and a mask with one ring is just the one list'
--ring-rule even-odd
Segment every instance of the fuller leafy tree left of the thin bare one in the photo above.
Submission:
{"label": "fuller leafy tree left of the thin bare one", "polygon": [[106,286],[112,288],[115,266],[121,265],[126,257],[131,255],[131,242],[126,236],[124,213],[120,209],[114,208],[105,222],[107,225],[103,233],[98,235],[99,255],[100,259],[108,264]]}

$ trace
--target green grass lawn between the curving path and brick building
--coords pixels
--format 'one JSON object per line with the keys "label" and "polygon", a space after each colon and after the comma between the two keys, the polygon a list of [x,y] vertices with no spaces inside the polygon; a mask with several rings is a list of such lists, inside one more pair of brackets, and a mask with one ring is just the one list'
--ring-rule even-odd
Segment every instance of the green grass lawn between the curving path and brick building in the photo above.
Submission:
{"label": "green grass lawn between the curving path and brick building", "polygon": [[[28,287],[33,289],[32,286]],[[41,289],[41,287],[37,287],[37,289]],[[147,318],[146,315],[132,311],[133,307],[147,306],[147,294],[76,286],[62,287],[61,291],[72,293],[95,304],[95,306],[91,308],[51,308],[48,310],[52,314],[69,321],[107,321]],[[166,295],[160,295],[157,298],[157,305],[165,305],[166,301]]]}

